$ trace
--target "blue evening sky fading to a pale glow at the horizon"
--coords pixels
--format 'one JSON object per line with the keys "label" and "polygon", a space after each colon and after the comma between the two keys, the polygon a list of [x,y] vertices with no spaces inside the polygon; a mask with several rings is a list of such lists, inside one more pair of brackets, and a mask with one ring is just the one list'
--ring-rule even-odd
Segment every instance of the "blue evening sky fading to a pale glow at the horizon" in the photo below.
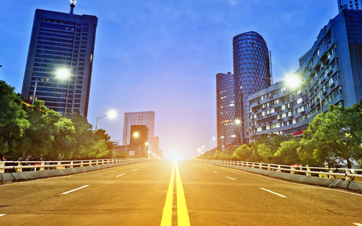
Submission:
{"label": "blue evening sky fading to a pale glow at the horizon", "polygon": [[[21,92],[35,9],[68,0],[0,0],[0,80]],[[232,37],[254,30],[272,52],[274,83],[338,13],[336,0],[77,0],[98,17],[88,120],[122,140],[123,114],[155,111],[164,158],[190,158],[216,142],[215,74],[232,72]]]}

